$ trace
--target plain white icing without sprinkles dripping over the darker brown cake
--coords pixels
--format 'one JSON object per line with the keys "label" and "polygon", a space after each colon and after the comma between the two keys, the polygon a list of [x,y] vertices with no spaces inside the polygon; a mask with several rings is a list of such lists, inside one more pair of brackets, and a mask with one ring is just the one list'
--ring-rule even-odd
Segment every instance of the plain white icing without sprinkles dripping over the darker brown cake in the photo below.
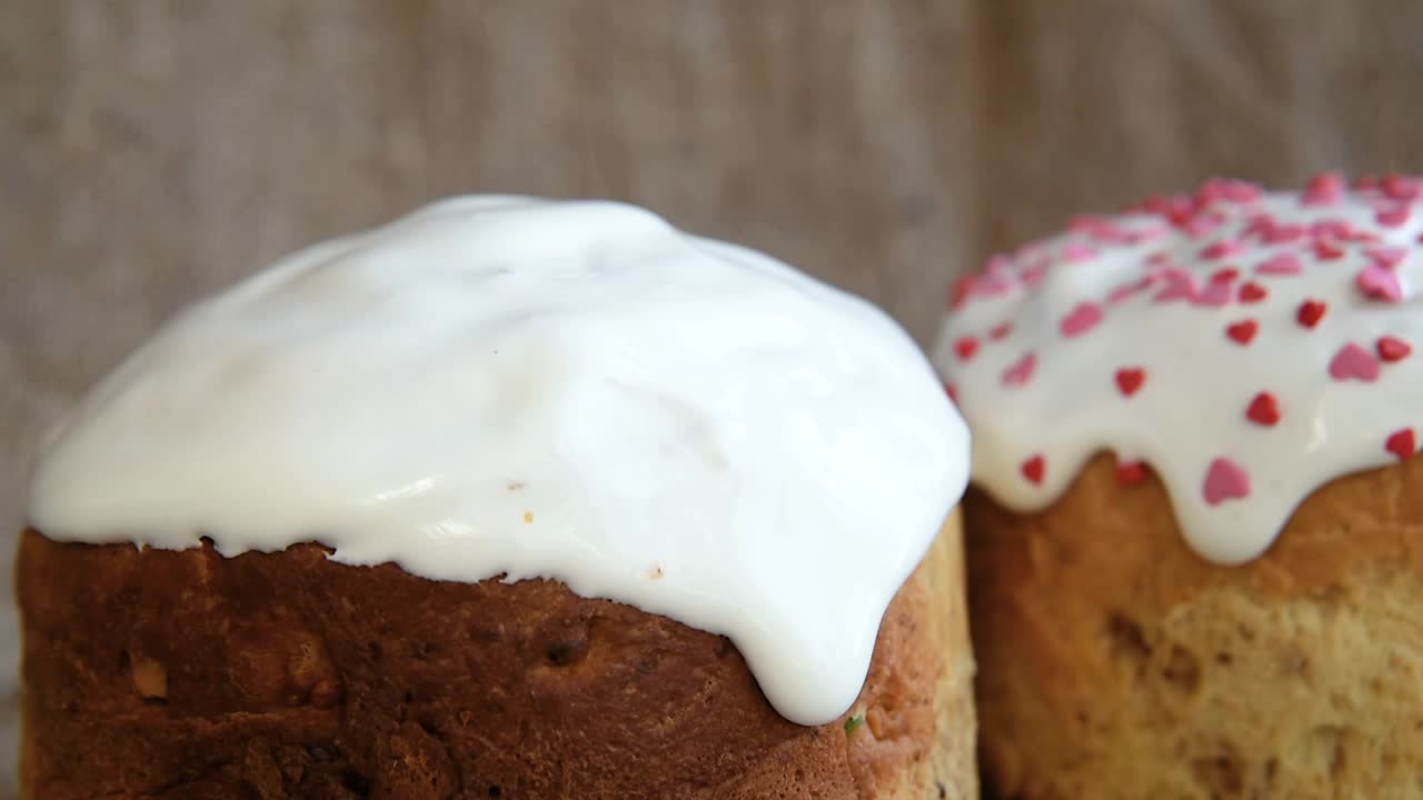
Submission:
{"label": "plain white icing without sprinkles dripping over the darker brown cake", "polygon": [[65,541],[559,579],[730,636],[824,723],[968,450],[868,303],[638,208],[468,196],[174,319],[55,430],[30,511]]}

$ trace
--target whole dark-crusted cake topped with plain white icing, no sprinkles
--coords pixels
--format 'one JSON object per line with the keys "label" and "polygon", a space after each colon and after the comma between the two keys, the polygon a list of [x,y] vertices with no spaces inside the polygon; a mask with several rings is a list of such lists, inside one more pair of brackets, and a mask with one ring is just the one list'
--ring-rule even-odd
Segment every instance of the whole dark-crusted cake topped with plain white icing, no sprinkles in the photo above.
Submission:
{"label": "whole dark-crusted cake topped with plain white icing, no sprinkles", "polygon": [[24,797],[976,799],[968,457],[888,316],[640,208],[314,245],[47,438]]}

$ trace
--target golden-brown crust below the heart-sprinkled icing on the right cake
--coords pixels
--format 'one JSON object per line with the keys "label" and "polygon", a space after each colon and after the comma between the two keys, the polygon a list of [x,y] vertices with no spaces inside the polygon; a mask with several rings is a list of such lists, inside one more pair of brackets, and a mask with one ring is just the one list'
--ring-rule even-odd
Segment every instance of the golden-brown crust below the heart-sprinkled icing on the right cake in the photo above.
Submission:
{"label": "golden-brown crust below the heart-sprinkled icing on the right cake", "polygon": [[1005,797],[1423,796],[1423,460],[1331,483],[1235,568],[1096,458],[965,502],[985,781]]}

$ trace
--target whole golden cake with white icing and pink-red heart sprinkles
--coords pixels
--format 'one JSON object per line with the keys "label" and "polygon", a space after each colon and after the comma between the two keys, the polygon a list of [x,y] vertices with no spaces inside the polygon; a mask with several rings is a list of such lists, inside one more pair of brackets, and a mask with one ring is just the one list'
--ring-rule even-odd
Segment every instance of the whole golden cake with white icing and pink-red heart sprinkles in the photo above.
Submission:
{"label": "whole golden cake with white icing and pink-red heart sprinkles", "polygon": [[1413,797],[1423,181],[1229,179],[961,280],[935,347],[1003,797]]}

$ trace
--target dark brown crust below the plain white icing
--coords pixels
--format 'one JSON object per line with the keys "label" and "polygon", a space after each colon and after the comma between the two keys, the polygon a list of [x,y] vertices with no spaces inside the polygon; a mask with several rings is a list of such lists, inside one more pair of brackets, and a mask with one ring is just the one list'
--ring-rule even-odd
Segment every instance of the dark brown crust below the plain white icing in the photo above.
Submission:
{"label": "dark brown crust below the plain white icing", "polygon": [[975,797],[959,547],[955,520],[889,606],[847,735],[780,717],[727,639],[552,581],[27,531],[26,791]]}

